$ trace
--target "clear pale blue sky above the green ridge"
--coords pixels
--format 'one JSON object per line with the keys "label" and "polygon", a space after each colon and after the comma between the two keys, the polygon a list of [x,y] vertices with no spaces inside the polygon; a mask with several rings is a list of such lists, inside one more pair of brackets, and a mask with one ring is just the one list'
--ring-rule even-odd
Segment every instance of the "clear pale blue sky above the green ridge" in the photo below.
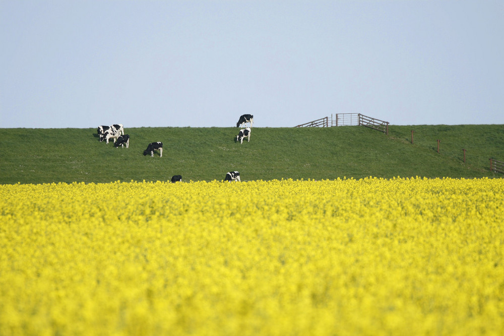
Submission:
{"label": "clear pale blue sky above the green ridge", "polygon": [[0,0],[0,128],[504,124],[504,1]]}

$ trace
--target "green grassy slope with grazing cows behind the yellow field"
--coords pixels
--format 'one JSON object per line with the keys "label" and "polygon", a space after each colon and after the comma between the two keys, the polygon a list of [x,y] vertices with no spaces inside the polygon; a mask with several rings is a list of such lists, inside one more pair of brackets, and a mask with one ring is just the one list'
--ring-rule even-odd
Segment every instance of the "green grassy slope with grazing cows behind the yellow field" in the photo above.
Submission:
{"label": "green grassy slope with grazing cows behind the yellow field", "polygon": [[[96,128],[0,129],[0,184],[167,181],[173,175],[211,181],[234,170],[244,181],[504,177],[489,172],[490,157],[504,161],[504,125],[392,125],[389,135],[359,126],[253,128],[241,145],[234,142],[237,131],[125,128],[127,149],[99,142]],[[153,141],[163,142],[163,157],[143,155]]]}

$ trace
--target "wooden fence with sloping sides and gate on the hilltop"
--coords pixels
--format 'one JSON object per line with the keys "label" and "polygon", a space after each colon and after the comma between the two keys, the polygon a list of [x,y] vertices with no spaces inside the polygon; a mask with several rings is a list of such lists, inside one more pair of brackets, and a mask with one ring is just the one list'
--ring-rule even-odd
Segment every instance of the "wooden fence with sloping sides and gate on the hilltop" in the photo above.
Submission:
{"label": "wooden fence with sloping sides and gate on the hilltop", "polygon": [[367,117],[360,113],[338,113],[333,117],[331,123],[329,117],[314,120],[309,123],[297,125],[296,127],[332,127],[332,126],[365,126],[389,134],[389,122],[376,118]]}

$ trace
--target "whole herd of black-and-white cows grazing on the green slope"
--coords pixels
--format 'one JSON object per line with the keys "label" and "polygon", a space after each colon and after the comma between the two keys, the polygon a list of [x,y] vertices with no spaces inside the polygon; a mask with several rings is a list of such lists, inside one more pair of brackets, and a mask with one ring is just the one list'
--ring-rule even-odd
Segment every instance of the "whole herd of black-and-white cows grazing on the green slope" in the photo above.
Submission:
{"label": "whole herd of black-and-white cows grazing on the green slope", "polygon": [[[252,124],[254,123],[254,116],[253,115],[242,115],[240,116],[240,119],[236,123],[236,127],[243,127],[246,126],[246,124],[249,124],[247,128],[240,129],[238,132],[238,135],[235,138],[236,142],[240,142],[240,144],[243,143],[243,139],[247,138],[247,141],[250,142],[250,129],[252,127]],[[124,134],[124,127],[122,124],[115,124],[111,126],[98,126],[98,139],[100,142],[106,141],[108,144],[108,140],[112,139],[114,142],[114,147],[118,148],[121,146],[124,148],[130,147],[130,135],[129,134]],[[157,142],[151,142],[150,144],[147,145],[147,149],[144,150],[144,155],[151,155],[154,156],[154,151],[159,150],[159,157],[163,157],[163,143],[161,141]],[[224,178],[224,181],[240,181],[240,173],[239,172],[229,172],[226,174],[226,177]],[[182,182],[182,176],[180,175],[174,175],[171,178],[171,182]]]}

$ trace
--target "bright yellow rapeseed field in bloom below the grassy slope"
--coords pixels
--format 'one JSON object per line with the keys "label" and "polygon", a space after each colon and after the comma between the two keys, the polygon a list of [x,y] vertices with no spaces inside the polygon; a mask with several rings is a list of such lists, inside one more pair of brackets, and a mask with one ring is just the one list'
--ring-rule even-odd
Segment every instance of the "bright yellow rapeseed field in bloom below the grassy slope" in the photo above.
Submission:
{"label": "bright yellow rapeseed field in bloom below the grassy slope", "polygon": [[0,335],[502,335],[504,180],[0,186]]}

